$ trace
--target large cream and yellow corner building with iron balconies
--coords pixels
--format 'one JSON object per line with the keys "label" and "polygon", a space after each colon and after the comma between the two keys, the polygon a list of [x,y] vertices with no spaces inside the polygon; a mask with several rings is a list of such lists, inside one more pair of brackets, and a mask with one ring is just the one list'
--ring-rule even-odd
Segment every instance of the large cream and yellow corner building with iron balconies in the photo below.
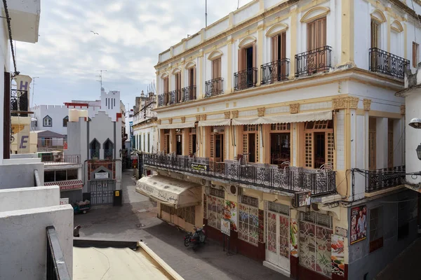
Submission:
{"label": "large cream and yellow corner building with iron balconies", "polygon": [[138,191],[295,279],[373,279],[417,235],[395,96],[413,5],[255,0],[161,52],[158,175]]}

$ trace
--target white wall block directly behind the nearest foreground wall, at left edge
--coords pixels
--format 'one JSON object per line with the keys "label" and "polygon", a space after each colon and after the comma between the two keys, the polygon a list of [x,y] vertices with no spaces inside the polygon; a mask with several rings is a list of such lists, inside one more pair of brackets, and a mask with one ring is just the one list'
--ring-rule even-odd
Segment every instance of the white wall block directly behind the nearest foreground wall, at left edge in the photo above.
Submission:
{"label": "white wall block directly behind the nearest foreground wall, at left edge", "polygon": [[58,186],[0,190],[0,212],[57,206],[59,197]]}

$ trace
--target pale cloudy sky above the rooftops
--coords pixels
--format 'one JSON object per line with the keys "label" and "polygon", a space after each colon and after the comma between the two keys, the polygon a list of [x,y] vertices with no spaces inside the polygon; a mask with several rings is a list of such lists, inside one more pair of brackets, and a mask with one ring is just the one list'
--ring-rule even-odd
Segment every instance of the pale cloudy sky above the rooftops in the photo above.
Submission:
{"label": "pale cloudy sky above the rooftops", "polygon": [[[208,25],[237,4],[208,0]],[[99,99],[96,76],[105,69],[102,87],[119,90],[126,109],[133,108],[156,79],[159,53],[204,26],[205,0],[41,0],[39,41],[15,42],[16,65],[23,75],[39,77],[33,105]]]}

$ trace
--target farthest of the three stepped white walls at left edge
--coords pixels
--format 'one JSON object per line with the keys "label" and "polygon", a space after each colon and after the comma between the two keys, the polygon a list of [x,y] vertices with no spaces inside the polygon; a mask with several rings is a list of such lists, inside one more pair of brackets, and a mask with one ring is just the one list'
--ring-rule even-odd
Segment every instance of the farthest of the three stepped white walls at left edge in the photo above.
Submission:
{"label": "farthest of the three stepped white walls at left edge", "polygon": [[44,184],[44,163],[20,163],[0,165],[0,189],[34,187],[34,170],[38,170],[41,185]]}

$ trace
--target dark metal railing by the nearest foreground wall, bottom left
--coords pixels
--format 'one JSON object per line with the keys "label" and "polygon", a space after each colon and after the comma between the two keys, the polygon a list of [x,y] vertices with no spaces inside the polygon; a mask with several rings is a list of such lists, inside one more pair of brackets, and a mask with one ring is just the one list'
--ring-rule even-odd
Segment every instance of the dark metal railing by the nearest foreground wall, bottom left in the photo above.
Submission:
{"label": "dark metal railing by the nearest foreground wall, bottom left", "polygon": [[60,246],[57,232],[53,225],[46,228],[47,232],[47,280],[70,280],[69,271]]}

